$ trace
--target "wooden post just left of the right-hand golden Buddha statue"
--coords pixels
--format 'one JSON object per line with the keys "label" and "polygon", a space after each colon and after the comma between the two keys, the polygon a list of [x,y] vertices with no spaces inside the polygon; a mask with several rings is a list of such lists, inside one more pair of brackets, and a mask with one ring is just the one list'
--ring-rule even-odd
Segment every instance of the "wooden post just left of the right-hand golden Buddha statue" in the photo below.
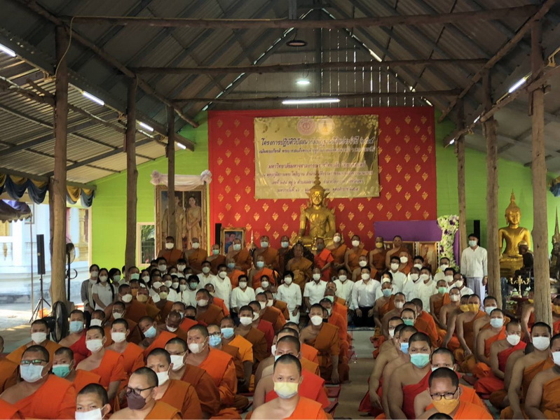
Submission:
{"label": "wooden post just left of the right-hand golden Buddha statue", "polygon": [[[492,108],[492,84],[490,71],[482,76],[484,85],[484,112]],[[486,136],[486,248],[488,250],[489,294],[496,297],[502,307],[500,280],[500,252],[498,244],[498,122],[492,117],[484,123]]]}

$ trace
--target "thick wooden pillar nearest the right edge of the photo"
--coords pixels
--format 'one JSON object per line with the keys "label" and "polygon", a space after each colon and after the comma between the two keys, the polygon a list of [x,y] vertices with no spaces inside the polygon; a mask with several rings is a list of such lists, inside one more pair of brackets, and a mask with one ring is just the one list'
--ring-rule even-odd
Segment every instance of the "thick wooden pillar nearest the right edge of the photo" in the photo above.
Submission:
{"label": "thick wooden pillar nearest the right edge of the photo", "polygon": [[[531,71],[542,73],[542,22],[531,27]],[[533,174],[533,255],[535,272],[535,319],[552,325],[548,260],[547,164],[545,162],[545,88],[529,92],[533,128],[531,174]]]}

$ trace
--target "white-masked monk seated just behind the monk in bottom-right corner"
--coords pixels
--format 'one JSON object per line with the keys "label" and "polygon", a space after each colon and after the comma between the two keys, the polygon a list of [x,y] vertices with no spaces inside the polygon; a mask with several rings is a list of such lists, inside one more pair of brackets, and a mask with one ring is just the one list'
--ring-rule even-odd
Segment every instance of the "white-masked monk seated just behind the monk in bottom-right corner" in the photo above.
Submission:
{"label": "white-masked monk seated just behind the monk in bottom-right corner", "polygon": [[539,372],[554,365],[549,351],[551,332],[550,326],[546,323],[537,322],[533,325],[531,341],[535,349],[515,362],[510,384],[507,388],[510,407],[502,410],[500,419],[526,418],[522,409],[522,402],[526,400],[529,384]]}

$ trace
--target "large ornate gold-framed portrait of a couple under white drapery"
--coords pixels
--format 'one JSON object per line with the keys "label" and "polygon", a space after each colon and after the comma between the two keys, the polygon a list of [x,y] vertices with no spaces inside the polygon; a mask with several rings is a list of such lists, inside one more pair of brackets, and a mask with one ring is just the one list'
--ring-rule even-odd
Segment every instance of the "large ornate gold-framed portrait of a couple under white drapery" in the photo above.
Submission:
{"label": "large ornate gold-framed portrait of a couple under white drapery", "polygon": [[165,237],[175,238],[175,247],[189,248],[191,239],[198,238],[200,248],[208,249],[206,214],[206,187],[193,190],[175,190],[175,232],[168,232],[168,188],[156,186],[157,251],[163,249]]}

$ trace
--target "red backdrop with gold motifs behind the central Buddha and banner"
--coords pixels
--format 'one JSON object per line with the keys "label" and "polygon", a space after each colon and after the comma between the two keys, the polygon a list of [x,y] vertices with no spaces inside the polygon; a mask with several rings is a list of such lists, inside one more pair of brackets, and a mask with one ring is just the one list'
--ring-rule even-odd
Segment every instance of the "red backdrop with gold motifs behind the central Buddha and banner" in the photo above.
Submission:
{"label": "red backdrop with gold motifs behind the central Buddha and banner", "polygon": [[[348,241],[360,235],[367,249],[374,244],[374,221],[423,221],[437,217],[434,111],[430,107],[281,109],[210,111],[210,223],[247,228],[255,241],[280,237],[299,228],[307,200],[255,200],[253,118],[274,116],[379,116],[380,197],[328,200],[336,225]],[[311,185],[310,185],[311,187]],[[250,236],[247,237],[249,239]],[[389,238],[385,238],[389,239]]]}

